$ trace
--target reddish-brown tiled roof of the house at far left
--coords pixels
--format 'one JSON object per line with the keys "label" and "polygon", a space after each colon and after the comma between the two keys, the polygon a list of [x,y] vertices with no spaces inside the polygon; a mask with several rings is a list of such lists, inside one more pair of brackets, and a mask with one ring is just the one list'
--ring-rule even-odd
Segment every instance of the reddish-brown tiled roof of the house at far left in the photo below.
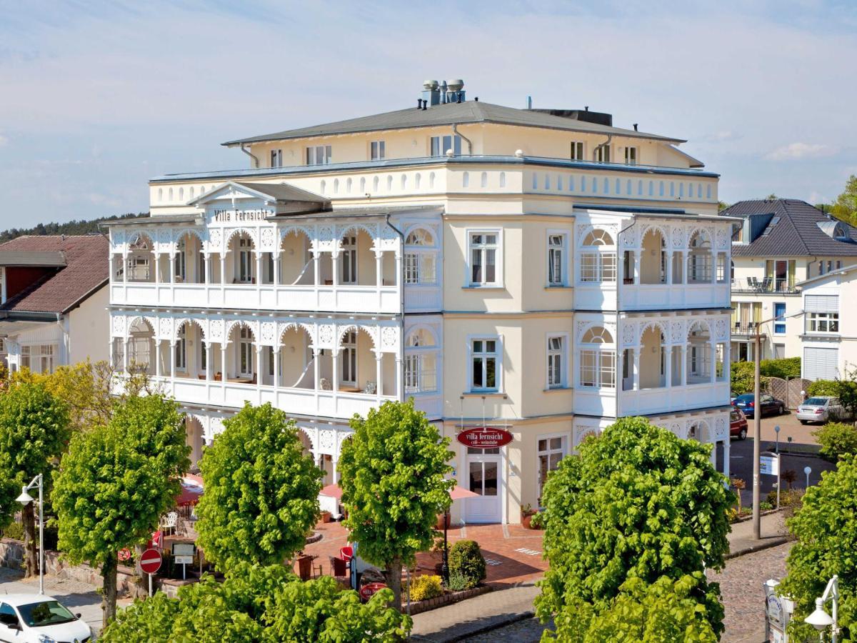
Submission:
{"label": "reddish-brown tiled roof of the house at far left", "polygon": [[18,237],[0,251],[62,252],[66,267],[39,279],[0,306],[0,310],[64,313],[96,291],[110,276],[110,243],[102,235]]}

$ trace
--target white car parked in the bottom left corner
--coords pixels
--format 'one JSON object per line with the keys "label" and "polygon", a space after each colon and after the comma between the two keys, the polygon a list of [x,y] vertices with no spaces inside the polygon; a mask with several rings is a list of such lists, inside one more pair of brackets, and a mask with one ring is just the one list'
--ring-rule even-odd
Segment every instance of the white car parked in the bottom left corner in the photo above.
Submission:
{"label": "white car parked in the bottom left corner", "polygon": [[80,614],[56,598],[39,594],[0,594],[0,641],[9,643],[85,643],[93,631]]}

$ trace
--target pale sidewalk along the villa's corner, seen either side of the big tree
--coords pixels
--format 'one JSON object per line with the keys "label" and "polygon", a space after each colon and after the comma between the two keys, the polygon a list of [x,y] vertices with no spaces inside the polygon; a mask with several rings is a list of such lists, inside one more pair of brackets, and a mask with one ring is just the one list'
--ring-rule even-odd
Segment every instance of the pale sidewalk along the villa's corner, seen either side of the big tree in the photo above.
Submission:
{"label": "pale sidewalk along the villa's corner, seen either side of the big tree", "polygon": [[[762,540],[752,537],[752,520],[736,523],[729,533],[728,558],[764,550],[786,542],[782,512],[762,516]],[[488,592],[452,605],[414,616],[413,640],[455,641],[508,623],[529,618],[535,613],[533,599],[539,589],[528,580],[495,592]]]}

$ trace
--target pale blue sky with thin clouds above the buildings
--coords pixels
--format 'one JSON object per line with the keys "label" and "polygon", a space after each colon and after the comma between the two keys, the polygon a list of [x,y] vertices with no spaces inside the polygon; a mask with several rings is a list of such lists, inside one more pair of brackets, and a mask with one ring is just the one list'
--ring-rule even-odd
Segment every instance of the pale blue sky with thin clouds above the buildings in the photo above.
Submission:
{"label": "pale blue sky with thin clouds above the buildings", "polygon": [[687,139],[734,202],[857,174],[857,2],[0,0],[0,229],[146,212],[220,143],[468,98]]}

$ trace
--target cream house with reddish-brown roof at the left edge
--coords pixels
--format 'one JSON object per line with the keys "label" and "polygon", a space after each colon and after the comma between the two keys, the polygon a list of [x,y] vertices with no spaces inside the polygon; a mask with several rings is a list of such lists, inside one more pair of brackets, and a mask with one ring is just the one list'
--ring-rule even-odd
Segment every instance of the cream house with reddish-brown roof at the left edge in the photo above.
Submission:
{"label": "cream house with reddish-brown roof at the left edge", "polygon": [[103,235],[0,244],[0,340],[9,370],[51,373],[107,359],[109,250]]}

